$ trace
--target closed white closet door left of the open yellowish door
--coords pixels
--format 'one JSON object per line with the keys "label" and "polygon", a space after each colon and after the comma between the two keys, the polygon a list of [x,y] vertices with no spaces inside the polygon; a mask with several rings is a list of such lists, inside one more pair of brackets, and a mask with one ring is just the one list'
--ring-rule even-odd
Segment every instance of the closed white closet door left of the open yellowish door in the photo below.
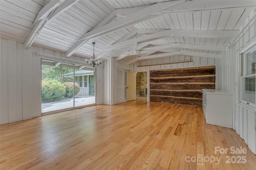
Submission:
{"label": "closed white closet door left of the open yellowish door", "polygon": [[117,69],[116,102],[126,101],[126,70]]}

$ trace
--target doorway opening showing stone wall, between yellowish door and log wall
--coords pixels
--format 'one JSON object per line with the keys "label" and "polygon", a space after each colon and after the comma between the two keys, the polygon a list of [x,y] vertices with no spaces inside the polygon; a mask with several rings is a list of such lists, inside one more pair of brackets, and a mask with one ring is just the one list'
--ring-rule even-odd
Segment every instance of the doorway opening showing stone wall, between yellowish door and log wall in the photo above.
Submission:
{"label": "doorway opening showing stone wall, between yellowish door and log wall", "polygon": [[136,74],[136,100],[147,101],[147,72]]}

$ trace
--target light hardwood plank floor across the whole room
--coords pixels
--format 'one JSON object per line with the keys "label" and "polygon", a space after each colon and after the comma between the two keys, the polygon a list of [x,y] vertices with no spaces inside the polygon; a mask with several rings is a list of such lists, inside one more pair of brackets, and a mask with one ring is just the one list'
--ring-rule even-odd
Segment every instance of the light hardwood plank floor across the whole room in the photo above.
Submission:
{"label": "light hardwood plank floor across the whole room", "polygon": [[[256,156],[239,135],[206,124],[202,107],[196,106],[138,100],[45,115],[0,130],[1,170],[256,167]],[[215,147],[228,151],[220,154]],[[247,152],[232,154],[230,147]],[[203,161],[196,161],[200,156]],[[243,163],[228,163],[228,156]]]}

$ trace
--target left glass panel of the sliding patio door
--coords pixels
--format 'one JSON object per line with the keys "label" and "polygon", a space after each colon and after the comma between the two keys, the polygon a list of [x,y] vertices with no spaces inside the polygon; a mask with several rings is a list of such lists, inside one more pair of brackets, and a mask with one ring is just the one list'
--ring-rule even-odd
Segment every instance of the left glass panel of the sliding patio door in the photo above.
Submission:
{"label": "left glass panel of the sliding patio door", "polygon": [[42,113],[72,108],[73,64],[42,60],[41,69]]}

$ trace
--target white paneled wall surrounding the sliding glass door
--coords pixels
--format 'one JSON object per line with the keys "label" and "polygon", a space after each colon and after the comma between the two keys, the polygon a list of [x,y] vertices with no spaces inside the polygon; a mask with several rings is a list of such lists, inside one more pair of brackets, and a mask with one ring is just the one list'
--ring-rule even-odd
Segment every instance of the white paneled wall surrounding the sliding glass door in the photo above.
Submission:
{"label": "white paneled wall surrounding the sliding glass door", "polygon": [[[85,64],[82,57],[68,59],[63,53],[35,46],[27,50],[16,41],[0,39],[0,46],[0,124],[41,115],[41,58]],[[47,55],[36,55],[36,52]],[[96,73],[97,104],[102,104],[102,67]]]}

